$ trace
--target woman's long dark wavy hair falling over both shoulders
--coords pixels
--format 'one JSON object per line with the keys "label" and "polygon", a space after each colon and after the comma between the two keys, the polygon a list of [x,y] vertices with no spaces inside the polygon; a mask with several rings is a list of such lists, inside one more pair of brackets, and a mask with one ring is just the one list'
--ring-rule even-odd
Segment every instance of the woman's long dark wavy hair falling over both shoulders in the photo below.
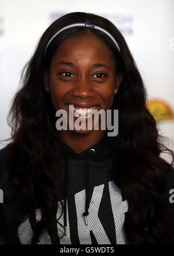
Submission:
{"label": "woman's long dark wavy hair falling over both shoulders", "polygon": [[[103,27],[116,38],[121,53],[113,41],[100,31],[75,27],[64,30],[44,50],[50,37],[59,29],[76,22],[88,22]],[[105,43],[115,56],[117,72],[123,78],[115,94],[112,109],[119,110],[119,132],[112,137],[114,181],[128,199],[124,229],[130,244],[169,243],[171,212],[164,202],[166,172],[172,164],[160,157],[173,152],[158,134],[154,117],[146,107],[147,92],[128,45],[117,27],[93,13],[67,13],[53,22],[39,40],[31,59],[21,73],[20,89],[13,99],[8,123],[12,128],[9,143],[9,172],[20,196],[20,211],[14,220],[14,234],[26,216],[41,209],[32,243],[37,243],[44,229],[50,228],[50,218],[57,211],[56,177],[63,179],[64,164],[57,146],[55,110],[45,91],[44,69],[48,69],[57,47],[65,38],[91,33]],[[125,161],[126,159],[126,161]]]}

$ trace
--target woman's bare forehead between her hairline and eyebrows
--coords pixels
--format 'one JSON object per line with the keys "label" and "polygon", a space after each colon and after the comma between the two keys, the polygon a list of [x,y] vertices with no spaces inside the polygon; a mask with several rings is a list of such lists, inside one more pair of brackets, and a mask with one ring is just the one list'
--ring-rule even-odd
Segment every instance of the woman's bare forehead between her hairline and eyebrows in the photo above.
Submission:
{"label": "woman's bare forehead between her hairline and eyebrows", "polygon": [[104,61],[108,64],[115,64],[115,58],[110,48],[99,38],[92,34],[85,34],[66,38],[57,48],[52,61],[66,58],[71,61],[87,60]]}

